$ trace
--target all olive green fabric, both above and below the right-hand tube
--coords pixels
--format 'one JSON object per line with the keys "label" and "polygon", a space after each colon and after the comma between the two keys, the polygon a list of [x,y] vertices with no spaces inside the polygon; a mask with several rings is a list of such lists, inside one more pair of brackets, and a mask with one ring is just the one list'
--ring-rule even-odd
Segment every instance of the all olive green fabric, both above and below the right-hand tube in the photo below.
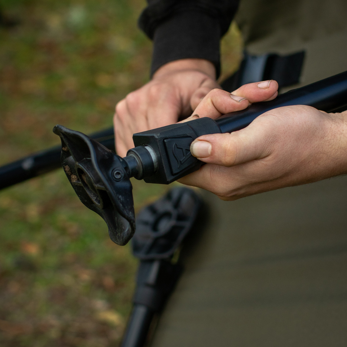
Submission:
{"label": "all olive green fabric, both above and below the right-hand tube", "polygon": [[[242,0],[251,53],[306,50],[301,84],[347,70],[347,2]],[[152,347],[347,346],[347,177],[234,202],[210,217]]]}

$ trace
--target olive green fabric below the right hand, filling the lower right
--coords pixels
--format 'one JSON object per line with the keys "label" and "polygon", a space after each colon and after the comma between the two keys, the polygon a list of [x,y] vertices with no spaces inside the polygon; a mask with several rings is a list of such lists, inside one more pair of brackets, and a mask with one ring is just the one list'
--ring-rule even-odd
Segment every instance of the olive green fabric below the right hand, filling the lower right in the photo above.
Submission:
{"label": "olive green fabric below the right hand, filling the lower right", "polygon": [[[347,177],[224,202],[154,347],[347,345]],[[223,214],[224,213],[224,214]]]}

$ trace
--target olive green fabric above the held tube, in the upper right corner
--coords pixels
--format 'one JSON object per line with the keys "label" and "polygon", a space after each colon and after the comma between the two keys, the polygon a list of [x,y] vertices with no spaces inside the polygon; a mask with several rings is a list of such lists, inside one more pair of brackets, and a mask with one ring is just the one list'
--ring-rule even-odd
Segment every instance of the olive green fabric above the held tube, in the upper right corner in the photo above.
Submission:
{"label": "olive green fabric above the held tube, in the upper right corner", "polygon": [[346,0],[241,0],[236,22],[250,54],[306,51],[298,87],[347,70],[346,17]]}

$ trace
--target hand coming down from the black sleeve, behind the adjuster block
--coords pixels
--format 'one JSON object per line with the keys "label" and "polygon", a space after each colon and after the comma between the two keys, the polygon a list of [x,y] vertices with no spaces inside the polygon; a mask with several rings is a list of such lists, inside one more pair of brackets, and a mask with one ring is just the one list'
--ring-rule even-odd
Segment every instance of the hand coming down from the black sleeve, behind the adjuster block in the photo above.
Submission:
{"label": "hand coming down from the black sleeve, behind the adjuster block", "polygon": [[133,134],[176,123],[191,115],[213,88],[215,68],[202,59],[181,59],[159,68],[152,80],[116,105],[113,118],[116,151],[120,156],[134,147]]}

